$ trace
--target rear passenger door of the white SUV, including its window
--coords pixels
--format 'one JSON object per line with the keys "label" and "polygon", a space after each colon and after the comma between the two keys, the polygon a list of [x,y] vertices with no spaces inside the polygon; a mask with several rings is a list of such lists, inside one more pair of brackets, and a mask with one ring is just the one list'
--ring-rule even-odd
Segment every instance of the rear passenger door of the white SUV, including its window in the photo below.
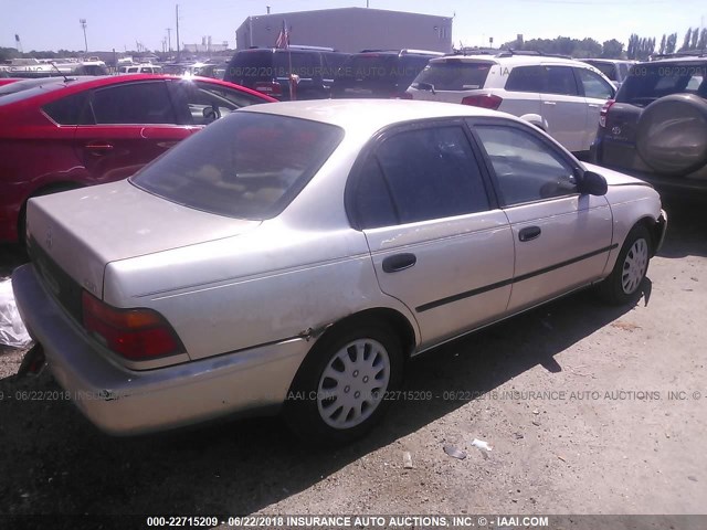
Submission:
{"label": "rear passenger door of the white SUV, including its window", "polygon": [[546,65],[545,83],[540,98],[548,134],[570,151],[589,150],[584,147],[589,113],[572,67]]}

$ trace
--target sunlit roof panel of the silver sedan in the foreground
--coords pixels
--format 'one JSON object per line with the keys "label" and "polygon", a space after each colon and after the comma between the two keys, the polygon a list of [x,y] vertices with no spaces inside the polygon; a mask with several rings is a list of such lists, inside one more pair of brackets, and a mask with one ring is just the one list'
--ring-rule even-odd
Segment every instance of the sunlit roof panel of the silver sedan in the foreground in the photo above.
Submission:
{"label": "sunlit roof panel of the silver sedan in the foreground", "polygon": [[410,99],[313,99],[253,105],[241,110],[320,121],[363,136],[389,125],[420,119],[503,116],[519,121],[509,114],[481,107]]}

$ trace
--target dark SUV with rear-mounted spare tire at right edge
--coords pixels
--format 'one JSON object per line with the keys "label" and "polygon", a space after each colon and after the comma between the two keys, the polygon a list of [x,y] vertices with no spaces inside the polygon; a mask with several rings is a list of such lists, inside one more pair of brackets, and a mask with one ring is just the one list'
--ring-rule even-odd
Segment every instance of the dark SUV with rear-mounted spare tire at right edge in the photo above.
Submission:
{"label": "dark SUV with rear-mounted spare tire at right edge", "polygon": [[707,191],[707,57],[641,63],[602,109],[598,163],[663,190]]}

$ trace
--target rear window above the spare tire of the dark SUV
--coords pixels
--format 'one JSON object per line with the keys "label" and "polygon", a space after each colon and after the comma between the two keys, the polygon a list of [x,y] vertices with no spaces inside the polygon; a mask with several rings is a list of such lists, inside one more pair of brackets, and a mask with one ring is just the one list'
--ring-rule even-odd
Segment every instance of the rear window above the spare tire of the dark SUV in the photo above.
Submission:
{"label": "rear window above the spare tire of the dark SUV", "polygon": [[645,106],[671,94],[697,94],[707,97],[707,64],[643,63],[631,68],[621,85],[616,102]]}

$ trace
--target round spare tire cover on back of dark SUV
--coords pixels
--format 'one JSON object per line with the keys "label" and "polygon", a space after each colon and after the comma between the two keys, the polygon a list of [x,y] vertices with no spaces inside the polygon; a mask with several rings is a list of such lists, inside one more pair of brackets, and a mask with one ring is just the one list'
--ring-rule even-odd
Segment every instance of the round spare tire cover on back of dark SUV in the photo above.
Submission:
{"label": "round spare tire cover on back of dark SUV", "polygon": [[707,102],[694,94],[653,102],[641,114],[636,149],[665,176],[686,176],[707,165]]}

